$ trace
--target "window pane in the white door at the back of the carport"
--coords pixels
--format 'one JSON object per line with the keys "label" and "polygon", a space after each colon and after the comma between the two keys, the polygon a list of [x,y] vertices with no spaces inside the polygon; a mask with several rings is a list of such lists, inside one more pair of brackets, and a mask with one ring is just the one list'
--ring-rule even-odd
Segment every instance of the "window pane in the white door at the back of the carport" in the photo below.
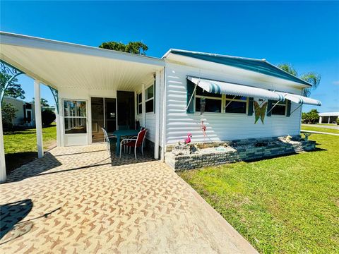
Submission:
{"label": "window pane in the white door at the back of the carport", "polygon": [[64,100],[65,134],[87,133],[86,102]]}

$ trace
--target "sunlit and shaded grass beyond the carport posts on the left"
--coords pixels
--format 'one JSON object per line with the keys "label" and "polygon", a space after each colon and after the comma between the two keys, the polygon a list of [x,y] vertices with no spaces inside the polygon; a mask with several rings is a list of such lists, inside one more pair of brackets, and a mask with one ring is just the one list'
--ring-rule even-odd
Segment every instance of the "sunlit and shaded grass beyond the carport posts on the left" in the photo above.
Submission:
{"label": "sunlit and shaded grass beyond the carport posts on the left", "polygon": [[[48,149],[57,140],[57,126],[52,125],[42,129],[44,150]],[[37,157],[37,138],[35,128],[19,131],[4,131],[4,147],[6,157],[6,171],[32,161]]]}

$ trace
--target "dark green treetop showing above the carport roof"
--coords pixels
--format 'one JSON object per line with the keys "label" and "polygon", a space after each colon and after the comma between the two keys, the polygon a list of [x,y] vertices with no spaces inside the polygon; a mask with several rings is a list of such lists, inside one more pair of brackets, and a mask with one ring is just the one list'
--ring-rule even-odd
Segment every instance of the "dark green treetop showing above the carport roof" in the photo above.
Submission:
{"label": "dark green treetop showing above the carport roof", "polygon": [[141,54],[145,56],[148,46],[143,42],[129,42],[124,44],[122,42],[102,42],[99,46],[101,49],[117,50],[119,52],[127,52],[132,54]]}

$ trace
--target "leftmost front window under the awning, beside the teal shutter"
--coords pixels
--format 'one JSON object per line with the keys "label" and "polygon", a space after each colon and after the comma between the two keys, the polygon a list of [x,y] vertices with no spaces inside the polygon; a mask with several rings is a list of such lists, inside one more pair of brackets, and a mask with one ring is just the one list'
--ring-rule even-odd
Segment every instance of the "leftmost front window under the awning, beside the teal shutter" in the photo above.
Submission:
{"label": "leftmost front window under the awning, beside the teal shutter", "polygon": [[205,99],[206,112],[221,112],[222,95],[204,91],[201,87],[196,87],[196,111],[201,111],[201,100]]}

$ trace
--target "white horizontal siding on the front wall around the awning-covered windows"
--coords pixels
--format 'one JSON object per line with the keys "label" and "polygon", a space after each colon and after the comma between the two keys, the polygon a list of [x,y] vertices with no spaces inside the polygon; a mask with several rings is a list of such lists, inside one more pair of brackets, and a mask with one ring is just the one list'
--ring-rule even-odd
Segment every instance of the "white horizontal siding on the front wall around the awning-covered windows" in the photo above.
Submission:
{"label": "white horizontal siding on the front wall around the awning-covered windows", "polygon": [[[208,113],[200,116],[199,112],[188,114],[186,77],[187,75],[201,76],[215,80],[244,85],[253,85],[271,90],[285,90],[301,94],[302,90],[293,87],[282,87],[270,83],[255,83],[253,80],[242,80],[241,78],[229,80],[225,73],[179,65],[167,62],[166,66],[166,143],[167,145],[183,141],[187,133],[193,135],[193,142],[213,142],[222,140],[233,140],[243,138],[265,138],[281,135],[298,135],[301,107],[290,117],[287,116],[265,116],[264,124],[259,120],[254,124],[255,116],[237,113]],[[254,98],[258,102],[259,98]],[[259,103],[260,104],[260,103]],[[292,103],[291,112],[299,105]],[[207,137],[201,131],[201,119],[207,127]]]}

